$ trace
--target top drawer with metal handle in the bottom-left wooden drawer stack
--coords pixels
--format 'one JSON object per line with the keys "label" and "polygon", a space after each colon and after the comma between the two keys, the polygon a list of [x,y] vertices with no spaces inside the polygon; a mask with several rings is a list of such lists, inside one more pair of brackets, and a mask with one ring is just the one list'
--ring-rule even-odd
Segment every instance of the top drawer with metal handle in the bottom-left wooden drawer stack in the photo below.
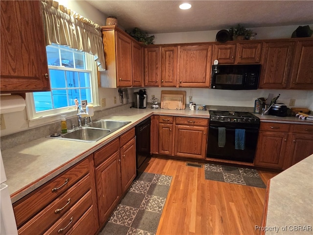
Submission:
{"label": "top drawer with metal handle in the bottom-left wooden drawer stack", "polygon": [[88,173],[89,158],[14,203],[13,210],[18,228]]}

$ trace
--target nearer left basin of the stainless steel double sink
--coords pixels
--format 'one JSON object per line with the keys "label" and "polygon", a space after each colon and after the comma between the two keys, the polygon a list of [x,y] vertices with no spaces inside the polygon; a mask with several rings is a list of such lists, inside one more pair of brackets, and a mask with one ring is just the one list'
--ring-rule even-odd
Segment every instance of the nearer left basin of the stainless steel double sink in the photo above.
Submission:
{"label": "nearer left basin of the stainless steel double sink", "polygon": [[68,132],[64,135],[61,135],[57,137],[57,139],[70,139],[85,142],[96,142],[109,134],[111,134],[111,130],[83,127],[81,129],[77,129]]}

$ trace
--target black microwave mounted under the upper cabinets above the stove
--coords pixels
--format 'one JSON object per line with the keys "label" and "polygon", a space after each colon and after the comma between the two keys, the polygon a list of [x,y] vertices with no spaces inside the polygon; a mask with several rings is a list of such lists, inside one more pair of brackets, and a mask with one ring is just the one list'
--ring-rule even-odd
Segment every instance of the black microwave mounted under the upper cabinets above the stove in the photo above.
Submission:
{"label": "black microwave mounted under the upper cabinets above the stove", "polygon": [[211,88],[223,90],[256,90],[261,65],[213,65]]}

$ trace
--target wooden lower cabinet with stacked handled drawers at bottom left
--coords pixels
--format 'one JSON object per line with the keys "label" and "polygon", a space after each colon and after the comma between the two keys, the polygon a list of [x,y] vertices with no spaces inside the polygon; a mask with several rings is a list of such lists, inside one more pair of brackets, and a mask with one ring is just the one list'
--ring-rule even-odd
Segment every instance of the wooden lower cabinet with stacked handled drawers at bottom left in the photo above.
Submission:
{"label": "wooden lower cabinet with stacked handled drawers at bottom left", "polygon": [[93,156],[14,203],[13,210],[20,235],[70,234],[76,228],[95,234],[99,221]]}

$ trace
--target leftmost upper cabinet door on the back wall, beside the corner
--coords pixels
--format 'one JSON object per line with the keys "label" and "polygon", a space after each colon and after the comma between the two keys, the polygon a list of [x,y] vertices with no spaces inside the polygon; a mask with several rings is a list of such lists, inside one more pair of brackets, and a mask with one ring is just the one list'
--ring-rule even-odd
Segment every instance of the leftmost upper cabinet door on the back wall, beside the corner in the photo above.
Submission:
{"label": "leftmost upper cabinet door on the back wall, beside the corner", "polygon": [[158,86],[160,82],[160,47],[145,47],[145,86]]}

